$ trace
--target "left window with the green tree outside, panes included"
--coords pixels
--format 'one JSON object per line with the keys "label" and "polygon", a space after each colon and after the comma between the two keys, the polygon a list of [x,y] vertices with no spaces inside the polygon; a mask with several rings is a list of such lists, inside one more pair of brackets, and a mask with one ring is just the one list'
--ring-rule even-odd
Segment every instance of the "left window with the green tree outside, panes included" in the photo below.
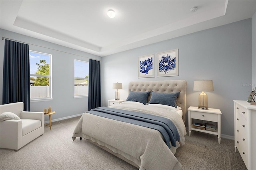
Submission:
{"label": "left window with the green tree outside, panes included", "polygon": [[52,55],[29,51],[30,100],[52,98]]}

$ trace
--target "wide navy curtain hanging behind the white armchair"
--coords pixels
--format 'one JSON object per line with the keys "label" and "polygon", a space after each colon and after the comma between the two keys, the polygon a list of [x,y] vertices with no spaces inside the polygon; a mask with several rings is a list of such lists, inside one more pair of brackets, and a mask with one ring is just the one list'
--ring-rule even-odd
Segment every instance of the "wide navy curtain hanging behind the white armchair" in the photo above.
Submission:
{"label": "wide navy curtain hanging behind the white armchair", "polygon": [[3,104],[23,102],[30,111],[30,65],[28,44],[5,40]]}

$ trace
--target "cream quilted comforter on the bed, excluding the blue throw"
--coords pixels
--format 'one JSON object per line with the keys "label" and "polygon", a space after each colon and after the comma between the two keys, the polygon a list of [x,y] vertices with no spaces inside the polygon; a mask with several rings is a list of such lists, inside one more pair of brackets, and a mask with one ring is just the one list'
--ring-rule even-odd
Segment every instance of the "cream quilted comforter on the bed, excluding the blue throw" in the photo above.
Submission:
{"label": "cream quilted comforter on the bed, excluding the blue throw", "polygon": [[170,119],[180,134],[177,146],[168,148],[158,130],[141,127],[121,121],[115,121],[84,113],[72,136],[83,137],[134,162],[140,170],[181,169],[182,166],[174,156],[176,149],[185,142],[186,127],[176,111],[146,105],[120,104],[112,106],[117,109],[138,111]]}

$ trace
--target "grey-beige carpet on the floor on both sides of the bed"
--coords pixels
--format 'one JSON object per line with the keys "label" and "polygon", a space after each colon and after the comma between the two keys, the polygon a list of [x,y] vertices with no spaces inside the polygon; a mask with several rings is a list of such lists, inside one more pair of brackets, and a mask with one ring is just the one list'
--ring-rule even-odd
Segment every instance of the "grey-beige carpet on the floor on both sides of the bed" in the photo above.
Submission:
{"label": "grey-beige carpet on the floor on both sides of the bed", "polygon": [[[1,170],[136,170],[134,166],[102,150],[98,146],[72,141],[79,117],[52,123],[44,135],[36,138],[18,152],[0,149]],[[186,144],[175,156],[184,170],[243,170],[246,169],[239,153],[234,152],[234,140],[192,132]]]}

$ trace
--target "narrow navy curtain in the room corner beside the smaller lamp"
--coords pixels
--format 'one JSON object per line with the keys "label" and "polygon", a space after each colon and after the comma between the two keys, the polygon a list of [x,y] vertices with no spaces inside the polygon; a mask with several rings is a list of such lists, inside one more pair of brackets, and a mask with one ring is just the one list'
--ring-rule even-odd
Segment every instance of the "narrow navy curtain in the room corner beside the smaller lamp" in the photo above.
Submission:
{"label": "narrow navy curtain in the room corner beside the smaller lamp", "polygon": [[101,107],[100,61],[89,60],[88,109]]}

